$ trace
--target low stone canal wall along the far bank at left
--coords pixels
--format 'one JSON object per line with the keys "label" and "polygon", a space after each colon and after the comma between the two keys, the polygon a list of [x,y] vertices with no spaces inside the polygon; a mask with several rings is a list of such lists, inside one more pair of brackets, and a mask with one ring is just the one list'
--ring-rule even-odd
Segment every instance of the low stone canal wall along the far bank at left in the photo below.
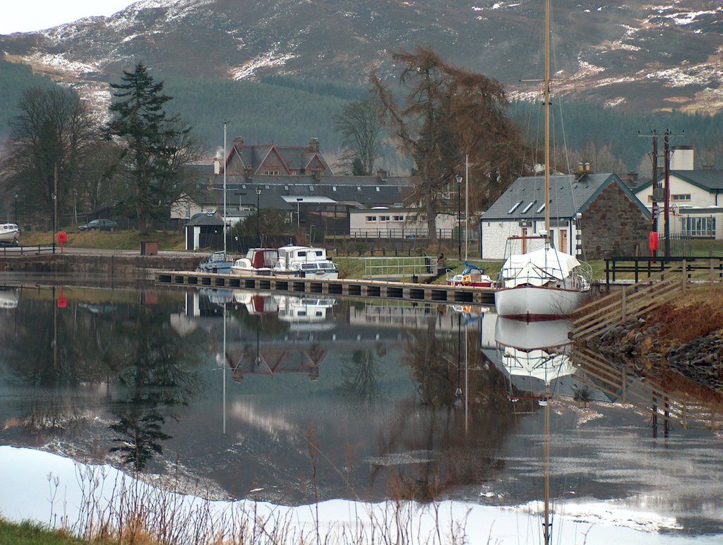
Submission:
{"label": "low stone canal wall along the far bank at left", "polygon": [[201,257],[182,254],[41,254],[0,258],[0,271],[103,274],[147,280],[154,278],[158,270],[195,270],[201,261]]}

